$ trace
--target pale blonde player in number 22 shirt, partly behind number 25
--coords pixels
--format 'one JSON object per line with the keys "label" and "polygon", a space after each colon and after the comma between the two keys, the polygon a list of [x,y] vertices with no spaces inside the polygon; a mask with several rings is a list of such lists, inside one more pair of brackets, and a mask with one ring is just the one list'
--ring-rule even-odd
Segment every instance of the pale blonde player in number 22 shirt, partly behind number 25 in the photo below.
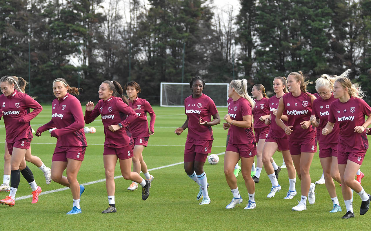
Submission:
{"label": "pale blonde player in number 22 shirt, partly behind number 25", "polygon": [[319,136],[319,160],[321,161],[325,184],[328,193],[330,194],[333,207],[330,213],[341,212],[341,207],[336,196],[335,184],[333,178],[341,183],[340,173],[338,169],[338,138],[339,124],[334,125],[331,135],[322,135],[322,128],[327,123],[329,108],[336,99],[332,94],[334,89],[335,79],[328,75],[322,75],[316,80],[316,91],[321,96],[313,101],[311,123],[317,128]]}

